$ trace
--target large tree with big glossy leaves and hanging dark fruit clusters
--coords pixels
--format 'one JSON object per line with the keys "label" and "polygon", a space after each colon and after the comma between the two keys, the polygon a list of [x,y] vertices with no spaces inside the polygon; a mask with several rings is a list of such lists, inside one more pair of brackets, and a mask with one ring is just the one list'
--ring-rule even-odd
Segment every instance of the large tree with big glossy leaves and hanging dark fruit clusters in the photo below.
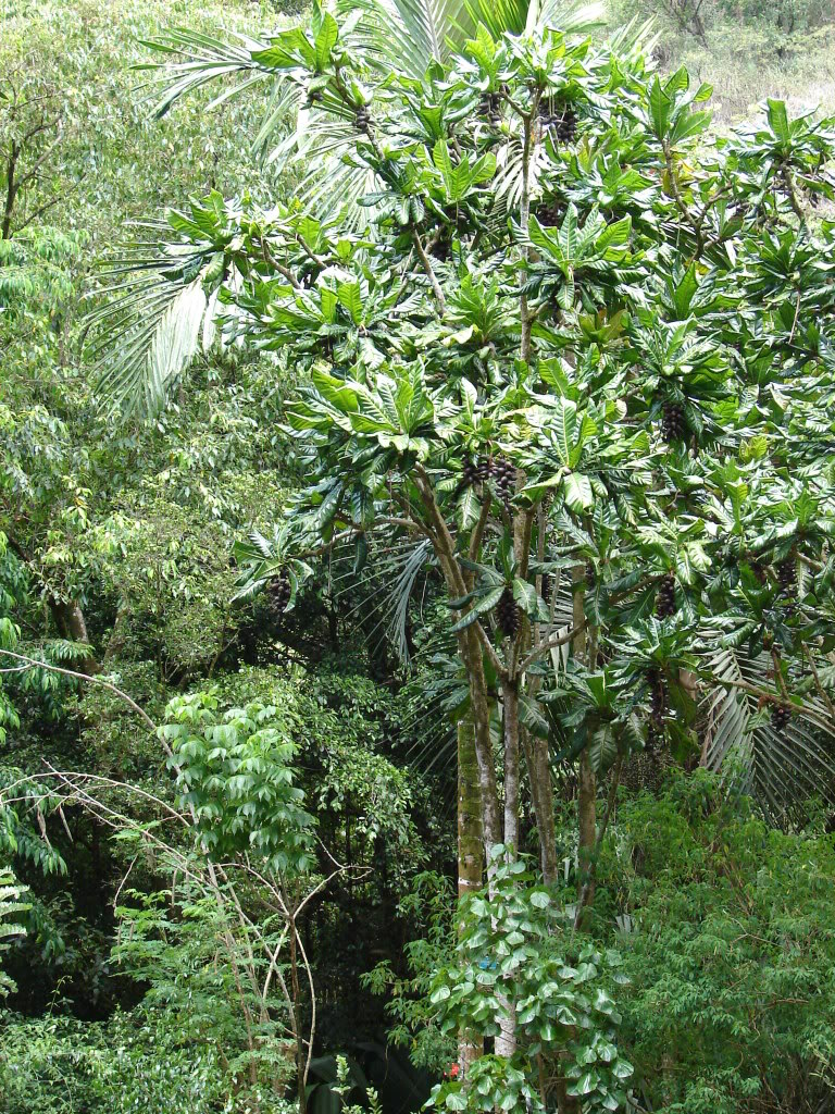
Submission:
{"label": "large tree with big glossy leaves and hanging dark fruit clusters", "polygon": [[292,606],[322,553],[422,547],[488,859],[529,809],[554,882],[551,770],[579,764],[581,928],[633,753],[733,753],[777,820],[831,795],[833,228],[807,198],[833,195],[833,121],[769,101],[710,137],[684,70],[547,26],[481,22],[420,78],[345,35],[315,7],[250,58],[353,125],[361,231],[213,194],[170,214],[158,266],[307,373],[310,483],[237,547],[245,590]]}

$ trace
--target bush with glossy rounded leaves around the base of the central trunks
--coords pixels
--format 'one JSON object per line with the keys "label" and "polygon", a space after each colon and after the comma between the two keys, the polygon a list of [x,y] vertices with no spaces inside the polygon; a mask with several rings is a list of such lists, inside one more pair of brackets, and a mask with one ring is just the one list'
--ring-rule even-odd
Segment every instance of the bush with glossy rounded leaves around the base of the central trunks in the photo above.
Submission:
{"label": "bush with glossy rounded leaves around the base of the central trunks", "polygon": [[466,1079],[435,1089],[435,1105],[543,1110],[559,1085],[553,1072],[589,1114],[620,1110],[632,1067],[615,1043],[620,1014],[609,990],[622,981],[619,965],[616,951],[574,935],[572,918],[523,860],[497,848],[490,892],[462,902],[455,955],[435,973],[430,1003],[442,1033],[483,1034],[497,1052],[513,1010],[518,1048],[481,1056]]}

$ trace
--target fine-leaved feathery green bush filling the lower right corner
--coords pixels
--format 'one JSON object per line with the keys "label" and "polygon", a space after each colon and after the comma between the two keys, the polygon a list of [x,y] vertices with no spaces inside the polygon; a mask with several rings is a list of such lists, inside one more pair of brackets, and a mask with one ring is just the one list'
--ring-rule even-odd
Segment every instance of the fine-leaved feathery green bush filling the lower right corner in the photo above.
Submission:
{"label": "fine-leaved feathery green bush filling the lower right corner", "polygon": [[658,1114],[829,1110],[835,839],[721,800],[700,774],[621,811],[601,868],[635,927],[623,1039]]}

